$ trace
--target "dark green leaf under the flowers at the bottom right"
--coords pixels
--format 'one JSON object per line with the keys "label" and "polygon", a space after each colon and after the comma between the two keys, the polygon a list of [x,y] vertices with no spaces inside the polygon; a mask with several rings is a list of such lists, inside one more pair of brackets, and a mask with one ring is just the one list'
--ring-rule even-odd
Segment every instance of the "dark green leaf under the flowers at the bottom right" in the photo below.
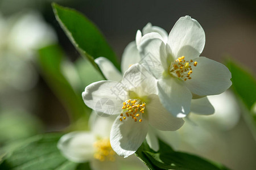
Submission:
{"label": "dark green leaf under the flowers at the bottom right", "polygon": [[149,169],[177,169],[177,170],[224,170],[223,165],[217,165],[196,155],[176,152],[166,143],[159,140],[159,151],[151,150],[144,142],[135,152]]}

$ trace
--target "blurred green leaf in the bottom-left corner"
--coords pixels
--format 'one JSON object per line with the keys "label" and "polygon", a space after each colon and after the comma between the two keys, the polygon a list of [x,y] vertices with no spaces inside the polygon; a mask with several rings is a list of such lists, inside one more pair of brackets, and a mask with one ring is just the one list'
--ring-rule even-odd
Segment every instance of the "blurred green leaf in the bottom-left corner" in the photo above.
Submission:
{"label": "blurred green leaf in the bottom-left corner", "polygon": [[27,139],[12,154],[6,156],[0,164],[0,169],[77,169],[80,165],[65,159],[57,148],[61,135],[42,134]]}

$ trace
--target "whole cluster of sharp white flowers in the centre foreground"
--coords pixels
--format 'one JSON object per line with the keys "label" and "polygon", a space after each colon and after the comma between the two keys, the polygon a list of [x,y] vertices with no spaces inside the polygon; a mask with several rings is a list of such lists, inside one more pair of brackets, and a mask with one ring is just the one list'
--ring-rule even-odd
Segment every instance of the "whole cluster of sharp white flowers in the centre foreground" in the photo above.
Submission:
{"label": "whole cluster of sharp white flowers in the centre foreground", "polygon": [[199,57],[204,44],[201,25],[184,16],[169,35],[150,23],[138,30],[123,53],[122,73],[104,57],[95,60],[108,80],[90,84],[82,97],[98,114],[115,115],[109,142],[117,155],[134,154],[144,139],[158,150],[154,129],[177,130],[189,112],[214,113],[207,96],[227,90],[231,74],[221,63]]}

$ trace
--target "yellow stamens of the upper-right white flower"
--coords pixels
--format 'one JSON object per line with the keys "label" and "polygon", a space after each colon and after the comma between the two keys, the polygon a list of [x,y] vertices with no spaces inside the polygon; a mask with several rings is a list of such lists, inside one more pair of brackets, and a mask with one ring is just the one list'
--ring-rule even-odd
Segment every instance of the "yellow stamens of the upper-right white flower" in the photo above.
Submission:
{"label": "yellow stamens of the upper-right white flower", "polygon": [[193,62],[192,59],[190,61],[186,61],[184,56],[179,57],[171,63],[169,73],[184,81],[191,79],[190,75],[193,73],[191,65],[196,67],[197,62]]}

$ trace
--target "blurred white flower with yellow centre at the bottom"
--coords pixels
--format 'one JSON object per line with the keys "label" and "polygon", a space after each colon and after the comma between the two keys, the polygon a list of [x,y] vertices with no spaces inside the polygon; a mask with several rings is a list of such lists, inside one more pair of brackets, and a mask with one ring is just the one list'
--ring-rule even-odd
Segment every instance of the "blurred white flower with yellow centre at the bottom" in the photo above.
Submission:
{"label": "blurred white flower with yellow centre at the bottom", "polygon": [[[100,117],[95,112],[90,116],[90,131],[73,131],[60,138],[57,147],[69,160],[89,162],[93,170],[120,169],[121,167],[143,168],[138,158],[123,159],[110,146],[109,135],[113,117]],[[130,167],[131,168],[131,167]]]}

